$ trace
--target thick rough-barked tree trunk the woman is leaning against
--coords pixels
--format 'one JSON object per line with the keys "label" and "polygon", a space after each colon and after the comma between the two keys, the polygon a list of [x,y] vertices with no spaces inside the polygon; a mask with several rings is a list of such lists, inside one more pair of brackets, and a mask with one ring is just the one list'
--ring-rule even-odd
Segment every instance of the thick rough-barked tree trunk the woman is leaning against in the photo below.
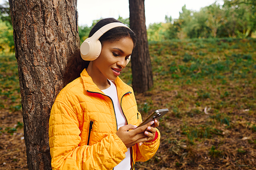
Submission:
{"label": "thick rough-barked tree trunk the woman is leaning against", "polygon": [[79,49],[77,1],[9,0],[29,169],[51,169],[49,117]]}

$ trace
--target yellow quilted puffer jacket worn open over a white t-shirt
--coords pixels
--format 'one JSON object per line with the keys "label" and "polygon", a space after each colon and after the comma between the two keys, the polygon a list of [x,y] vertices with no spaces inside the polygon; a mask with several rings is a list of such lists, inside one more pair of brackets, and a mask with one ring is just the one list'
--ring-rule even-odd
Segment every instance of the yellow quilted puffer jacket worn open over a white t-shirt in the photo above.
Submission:
{"label": "yellow quilted puffer jacket worn open over a white t-shirt", "polygon": [[[142,119],[133,89],[116,81],[118,99],[127,124],[138,126]],[[112,169],[125,158],[125,147],[116,135],[117,122],[112,100],[92,81],[86,69],[58,94],[51,110],[49,144],[53,169]],[[132,147],[132,161],[154,156],[160,133],[153,142]]]}

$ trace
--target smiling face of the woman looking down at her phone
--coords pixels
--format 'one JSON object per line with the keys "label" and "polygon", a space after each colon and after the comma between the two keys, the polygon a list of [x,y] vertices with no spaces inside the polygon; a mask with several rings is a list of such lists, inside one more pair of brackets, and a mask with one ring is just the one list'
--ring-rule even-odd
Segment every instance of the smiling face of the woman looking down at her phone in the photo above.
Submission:
{"label": "smiling face of the woman looking down at her phone", "polygon": [[103,79],[116,80],[129,62],[133,45],[133,40],[130,37],[113,42],[104,42],[99,57],[92,63],[93,72],[90,76],[102,81]]}

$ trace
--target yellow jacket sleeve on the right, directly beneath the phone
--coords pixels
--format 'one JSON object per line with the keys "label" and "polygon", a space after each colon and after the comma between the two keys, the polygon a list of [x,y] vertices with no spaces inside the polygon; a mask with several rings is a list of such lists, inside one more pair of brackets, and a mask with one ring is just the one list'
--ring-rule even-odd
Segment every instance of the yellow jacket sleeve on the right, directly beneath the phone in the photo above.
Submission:
{"label": "yellow jacket sleeve on the right, directly beneath the phone", "polygon": [[[142,117],[141,114],[138,112],[138,125],[142,122]],[[157,128],[156,128],[157,129]],[[141,161],[141,162],[145,162],[147,160],[149,160],[150,158],[152,158],[160,145],[160,132],[157,129],[158,137],[156,140],[152,141],[152,142],[144,142],[141,146],[138,145],[138,143],[135,145],[136,147],[136,162],[137,161]]]}

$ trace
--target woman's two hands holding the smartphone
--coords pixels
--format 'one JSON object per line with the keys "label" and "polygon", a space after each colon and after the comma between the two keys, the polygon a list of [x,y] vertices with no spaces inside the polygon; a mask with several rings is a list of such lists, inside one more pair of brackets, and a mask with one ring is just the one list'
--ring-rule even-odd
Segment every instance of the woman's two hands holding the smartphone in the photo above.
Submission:
{"label": "woman's two hands holding the smartphone", "polygon": [[[119,128],[116,134],[123,141],[126,148],[130,148],[136,143],[139,143],[139,142],[143,143],[145,141],[150,141],[154,139],[156,129],[151,126],[154,126],[154,127],[159,126],[158,121],[157,120],[156,122],[152,121],[139,128],[136,128],[136,126],[133,126],[133,125],[125,125]],[[128,130],[131,130],[131,131],[128,131]]]}

